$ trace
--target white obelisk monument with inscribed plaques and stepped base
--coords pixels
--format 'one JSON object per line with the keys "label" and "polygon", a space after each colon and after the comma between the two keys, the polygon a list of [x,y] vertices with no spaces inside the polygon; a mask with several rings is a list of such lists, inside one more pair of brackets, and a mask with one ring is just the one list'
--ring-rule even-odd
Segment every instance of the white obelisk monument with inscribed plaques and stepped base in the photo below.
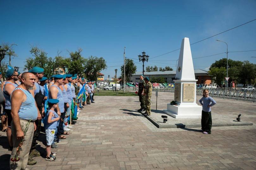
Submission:
{"label": "white obelisk monument with inscribed plaques and stepped base", "polygon": [[196,82],[189,38],[183,38],[176,70],[174,101],[167,104],[165,114],[174,118],[201,118],[202,106],[196,103]]}

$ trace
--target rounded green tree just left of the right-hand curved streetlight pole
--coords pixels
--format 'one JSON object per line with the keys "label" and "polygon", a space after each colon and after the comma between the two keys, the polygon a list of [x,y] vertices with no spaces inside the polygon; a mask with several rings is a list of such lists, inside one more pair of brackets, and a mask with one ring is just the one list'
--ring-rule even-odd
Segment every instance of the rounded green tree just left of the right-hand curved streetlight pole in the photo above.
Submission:
{"label": "rounded green tree just left of the right-hand curved streetlight pole", "polygon": [[227,70],[225,67],[212,67],[208,74],[214,83],[221,85],[221,81],[225,79],[226,72]]}

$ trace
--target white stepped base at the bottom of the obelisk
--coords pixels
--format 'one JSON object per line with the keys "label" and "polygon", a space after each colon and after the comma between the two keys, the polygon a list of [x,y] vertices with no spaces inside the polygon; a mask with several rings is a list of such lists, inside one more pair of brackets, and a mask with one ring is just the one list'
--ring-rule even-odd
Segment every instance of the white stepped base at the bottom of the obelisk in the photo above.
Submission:
{"label": "white stepped base at the bottom of the obelisk", "polygon": [[196,103],[180,105],[167,104],[167,110],[164,110],[165,114],[168,114],[174,118],[201,118],[202,117],[202,106]]}

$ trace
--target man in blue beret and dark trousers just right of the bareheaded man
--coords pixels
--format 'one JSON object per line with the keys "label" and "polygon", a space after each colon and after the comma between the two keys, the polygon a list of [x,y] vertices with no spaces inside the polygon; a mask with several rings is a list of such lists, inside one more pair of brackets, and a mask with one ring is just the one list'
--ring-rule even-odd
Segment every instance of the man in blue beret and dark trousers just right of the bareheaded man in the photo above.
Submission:
{"label": "man in blue beret and dark trousers just right of the bareheaded man", "polygon": [[[32,96],[34,96],[36,106],[40,111],[39,117],[42,117],[42,103],[44,100],[44,95],[43,95],[44,89],[40,88],[40,85],[38,82],[39,82],[39,79],[42,79],[42,77],[44,76],[44,69],[40,68],[40,67],[33,67],[28,72],[33,73],[35,75],[34,86],[29,91],[32,94]],[[36,124],[37,128],[36,128],[36,131],[34,132],[34,136],[33,136],[32,146],[31,146],[31,150],[30,150],[30,154],[29,154],[29,158],[28,158],[28,165],[36,164],[36,161],[32,158],[34,156],[40,156],[40,152],[36,150],[36,144],[37,144],[36,140],[41,131],[41,119],[36,120],[35,124]]]}

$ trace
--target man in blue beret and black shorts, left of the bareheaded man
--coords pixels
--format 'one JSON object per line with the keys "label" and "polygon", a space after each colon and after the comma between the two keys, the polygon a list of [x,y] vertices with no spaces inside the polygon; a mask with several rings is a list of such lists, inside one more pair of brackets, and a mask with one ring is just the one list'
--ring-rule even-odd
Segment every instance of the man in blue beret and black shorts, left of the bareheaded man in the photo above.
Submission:
{"label": "man in blue beret and black shorts, left of the bareheaded man", "polygon": [[12,91],[18,86],[15,84],[15,81],[18,79],[18,72],[15,71],[13,68],[9,69],[6,72],[7,80],[3,85],[3,96],[5,98],[5,108],[4,112],[7,115],[7,139],[9,142],[9,150],[12,150],[12,132],[11,132],[11,122],[12,122],[12,116],[11,116],[11,98],[10,95]]}

